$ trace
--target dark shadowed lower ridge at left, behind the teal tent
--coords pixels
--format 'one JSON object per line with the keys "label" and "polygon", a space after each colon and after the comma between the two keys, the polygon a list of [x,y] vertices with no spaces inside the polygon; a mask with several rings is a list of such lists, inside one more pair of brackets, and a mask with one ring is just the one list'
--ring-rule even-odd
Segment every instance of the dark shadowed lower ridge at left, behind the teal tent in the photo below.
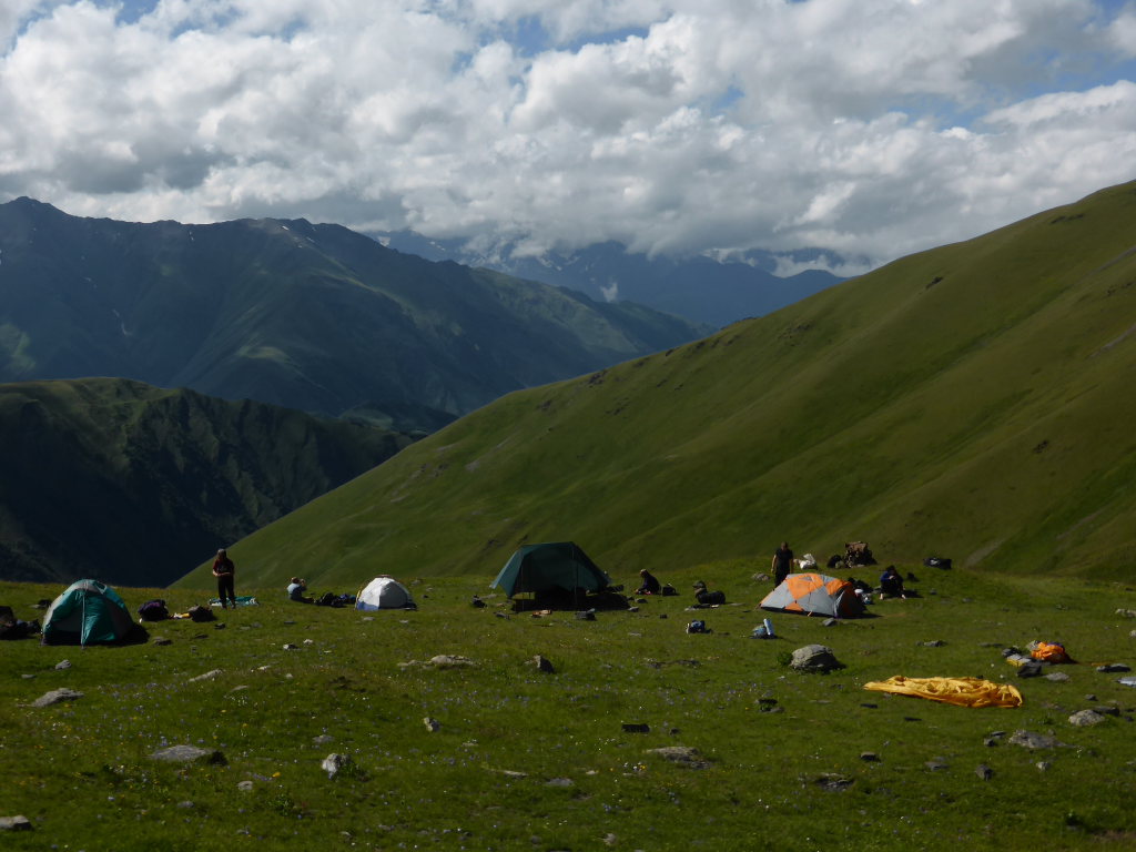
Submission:
{"label": "dark shadowed lower ridge at left, behind the teal tent", "polygon": [[140,382],[0,385],[0,577],[166,585],[409,443]]}

